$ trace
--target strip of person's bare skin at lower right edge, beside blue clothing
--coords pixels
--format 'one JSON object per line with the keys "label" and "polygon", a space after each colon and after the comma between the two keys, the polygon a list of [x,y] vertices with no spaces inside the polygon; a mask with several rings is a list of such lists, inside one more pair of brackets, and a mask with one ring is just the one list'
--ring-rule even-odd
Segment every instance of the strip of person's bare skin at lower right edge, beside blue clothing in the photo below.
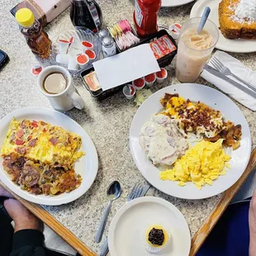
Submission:
{"label": "strip of person's bare skin at lower right edge, beside blue clothing", "polygon": [[256,256],[256,190],[249,205],[249,256]]}

